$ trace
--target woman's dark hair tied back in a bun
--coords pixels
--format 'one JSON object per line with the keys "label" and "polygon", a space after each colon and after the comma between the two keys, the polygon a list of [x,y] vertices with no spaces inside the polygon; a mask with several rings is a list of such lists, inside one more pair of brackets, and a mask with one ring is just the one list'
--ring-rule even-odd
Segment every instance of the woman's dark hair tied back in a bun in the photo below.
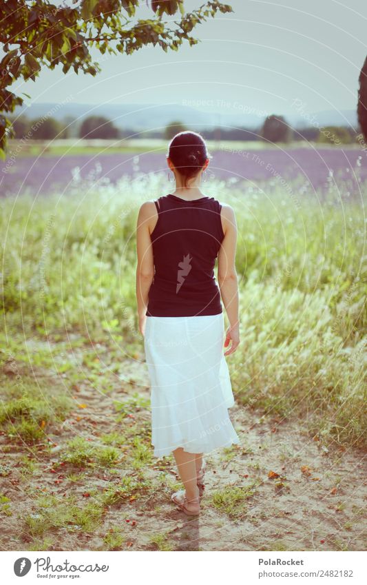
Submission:
{"label": "woman's dark hair tied back in a bun", "polygon": [[180,175],[185,178],[185,187],[189,178],[198,174],[210,155],[204,138],[197,132],[179,132],[169,143],[167,156]]}

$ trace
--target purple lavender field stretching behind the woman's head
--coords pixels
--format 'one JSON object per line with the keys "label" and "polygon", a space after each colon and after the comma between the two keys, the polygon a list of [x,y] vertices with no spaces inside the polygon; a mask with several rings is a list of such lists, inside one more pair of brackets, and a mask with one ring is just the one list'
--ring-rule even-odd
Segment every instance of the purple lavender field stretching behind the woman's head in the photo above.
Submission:
{"label": "purple lavender field stretching behind the woman's head", "polygon": [[[281,147],[244,150],[222,143],[213,150],[207,178],[231,179],[233,183],[296,181],[301,192],[340,189],[344,196],[356,196],[359,183],[367,179],[367,154],[357,148]],[[29,193],[74,193],[75,185],[85,179],[116,185],[121,176],[164,174],[165,152],[121,152],[68,154],[60,156],[9,156],[0,170],[2,196]]]}

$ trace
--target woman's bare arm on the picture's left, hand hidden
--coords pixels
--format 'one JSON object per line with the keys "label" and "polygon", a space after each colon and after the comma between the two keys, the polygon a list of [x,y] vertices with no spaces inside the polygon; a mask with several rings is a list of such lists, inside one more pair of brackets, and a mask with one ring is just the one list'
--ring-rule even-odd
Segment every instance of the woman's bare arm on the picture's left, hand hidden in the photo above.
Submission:
{"label": "woman's bare arm on the picture's left, hand hidden", "polygon": [[156,212],[156,206],[151,201],[141,205],[136,225],[136,251],[138,263],[136,266],[136,302],[138,306],[139,331],[144,336],[148,294],[154,278],[153,248],[149,232],[149,223]]}

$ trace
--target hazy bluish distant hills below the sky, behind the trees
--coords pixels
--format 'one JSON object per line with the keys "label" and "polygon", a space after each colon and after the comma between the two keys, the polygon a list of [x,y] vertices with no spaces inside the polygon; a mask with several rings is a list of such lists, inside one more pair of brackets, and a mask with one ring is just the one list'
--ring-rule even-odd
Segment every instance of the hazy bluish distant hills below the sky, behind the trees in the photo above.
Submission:
{"label": "hazy bluish distant hills below the sky, behind the trees", "polygon": [[[19,112],[26,114],[28,117],[40,118],[49,115],[57,120],[63,120],[66,117],[75,118],[81,121],[83,118],[92,115],[105,116],[107,119],[114,121],[114,125],[120,128],[129,128],[139,130],[160,130],[167,126],[171,121],[182,121],[193,130],[202,130],[204,128],[212,129],[213,127],[260,127],[264,117],[260,118],[255,114],[244,113],[216,113],[198,110],[195,107],[181,105],[178,103],[168,104],[100,104],[91,105],[86,103],[33,103],[30,106],[18,107],[15,115]],[[281,114],[281,112],[274,112]],[[319,125],[357,125],[357,113],[354,110],[343,110],[337,112],[327,110],[325,112],[316,112],[308,114],[302,118],[300,114],[282,114],[286,121],[293,127],[304,127],[312,125],[308,122],[315,116]]]}

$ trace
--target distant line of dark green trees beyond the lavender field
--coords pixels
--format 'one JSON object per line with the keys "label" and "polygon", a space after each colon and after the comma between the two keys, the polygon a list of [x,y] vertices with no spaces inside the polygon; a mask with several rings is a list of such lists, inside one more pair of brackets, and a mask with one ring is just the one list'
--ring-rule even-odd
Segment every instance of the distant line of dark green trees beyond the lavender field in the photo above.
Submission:
{"label": "distant line of dark green trees beyond the lavender field", "polygon": [[[55,138],[86,138],[86,139],[123,139],[134,138],[165,138],[170,140],[178,132],[188,130],[184,123],[173,121],[164,130],[136,132],[133,129],[122,130],[104,116],[88,116],[81,122],[68,117],[64,121],[52,117],[28,119],[19,116],[12,120],[14,138],[28,136],[32,139],[54,140]],[[357,131],[350,127],[304,127],[293,129],[283,116],[268,116],[262,127],[249,128],[216,127],[201,130],[204,138],[211,141],[265,141],[267,143],[289,143],[291,141],[311,141],[326,144],[352,144],[357,142]]]}

